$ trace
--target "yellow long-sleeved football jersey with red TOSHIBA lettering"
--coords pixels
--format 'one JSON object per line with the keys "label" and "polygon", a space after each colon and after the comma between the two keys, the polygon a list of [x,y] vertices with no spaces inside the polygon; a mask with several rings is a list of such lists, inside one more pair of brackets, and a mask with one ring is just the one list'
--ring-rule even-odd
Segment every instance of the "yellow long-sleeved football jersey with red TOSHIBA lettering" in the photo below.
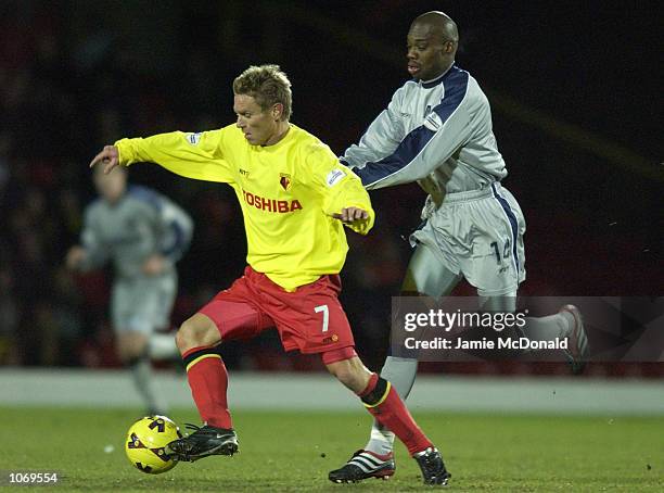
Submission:
{"label": "yellow long-sleeved football jersey with red TOSHIBA lettering", "polygon": [[252,146],[234,125],[200,134],[175,131],[115,142],[120,164],[157,163],[189,178],[235,190],[247,239],[247,263],[285,290],[339,273],[348,244],[331,217],[360,207],[369,219],[349,226],[366,235],[374,212],[360,179],[330,148],[291,124],[273,146]]}

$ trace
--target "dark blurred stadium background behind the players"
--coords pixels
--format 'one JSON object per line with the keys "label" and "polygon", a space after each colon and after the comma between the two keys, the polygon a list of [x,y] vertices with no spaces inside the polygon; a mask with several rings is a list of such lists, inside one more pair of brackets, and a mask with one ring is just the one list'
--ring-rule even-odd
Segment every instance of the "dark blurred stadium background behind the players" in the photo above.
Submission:
{"label": "dark blurred stadium background behind the players", "polygon": [[[108,273],[63,267],[87,163],[125,136],[233,122],[231,83],[279,63],[293,122],[337,153],[407,77],[412,17],[459,25],[458,63],[487,92],[527,220],[527,295],[662,295],[664,165],[661,5],[656,2],[0,1],[0,364],[113,367]],[[137,165],[131,180],[190,211],[174,324],[244,266],[230,188]],[[376,228],[349,235],[343,302],[361,355],[379,367],[391,295],[419,223],[417,186],[372,193]],[[468,287],[459,293],[471,294]],[[376,350],[380,347],[380,351]],[[319,368],[273,336],[226,350],[229,366]],[[430,366],[427,369],[440,369]],[[446,371],[563,372],[560,365],[447,365]],[[662,365],[590,365],[590,375],[663,375]]]}

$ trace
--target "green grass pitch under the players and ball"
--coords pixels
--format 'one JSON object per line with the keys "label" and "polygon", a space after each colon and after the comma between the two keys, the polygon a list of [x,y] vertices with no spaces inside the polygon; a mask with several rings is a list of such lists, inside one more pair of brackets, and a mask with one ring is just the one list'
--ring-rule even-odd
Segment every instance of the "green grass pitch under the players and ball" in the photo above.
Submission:
{"label": "green grass pitch under the players and ball", "polygon": [[[180,464],[161,476],[133,469],[124,437],[132,410],[0,408],[0,469],[55,470],[58,486],[39,491],[423,490],[414,462],[397,448],[390,481],[332,484],[366,440],[369,416],[237,412],[241,453]],[[174,412],[182,427],[196,415]],[[533,417],[417,414],[442,450],[450,491],[664,491],[664,418]],[[105,453],[113,445],[115,451]],[[5,480],[3,478],[3,480]],[[0,488],[0,491],[27,491]]]}

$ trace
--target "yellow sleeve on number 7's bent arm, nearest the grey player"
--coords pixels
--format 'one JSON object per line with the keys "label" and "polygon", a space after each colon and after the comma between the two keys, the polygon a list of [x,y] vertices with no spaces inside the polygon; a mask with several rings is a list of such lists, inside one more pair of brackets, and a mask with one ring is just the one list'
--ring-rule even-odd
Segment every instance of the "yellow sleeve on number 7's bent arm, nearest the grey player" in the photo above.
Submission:
{"label": "yellow sleeve on number 7's bent arm, nearest the grey player", "polygon": [[367,220],[355,222],[346,226],[360,235],[367,235],[373,227],[375,213],[371,207],[369,193],[360,179],[346,166],[343,166],[327,146],[311,146],[305,157],[310,170],[311,186],[323,198],[323,212],[331,216],[341,213],[344,207],[358,207],[369,213]]}

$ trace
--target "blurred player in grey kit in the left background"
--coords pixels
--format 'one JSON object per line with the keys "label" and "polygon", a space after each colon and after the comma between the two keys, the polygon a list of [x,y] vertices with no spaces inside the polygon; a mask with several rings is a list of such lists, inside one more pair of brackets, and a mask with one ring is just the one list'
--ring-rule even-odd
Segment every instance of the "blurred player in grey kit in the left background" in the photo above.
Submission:
{"label": "blurred player in grey kit in the left background", "polygon": [[149,412],[163,414],[150,359],[179,356],[175,337],[155,329],[168,327],[178,285],[175,264],[189,248],[193,223],[164,195],[127,186],[125,169],[108,175],[99,169],[93,179],[100,198],[86,208],[82,244],[69,249],[66,264],[86,271],[113,261],[111,317],[117,353],[131,369]]}

